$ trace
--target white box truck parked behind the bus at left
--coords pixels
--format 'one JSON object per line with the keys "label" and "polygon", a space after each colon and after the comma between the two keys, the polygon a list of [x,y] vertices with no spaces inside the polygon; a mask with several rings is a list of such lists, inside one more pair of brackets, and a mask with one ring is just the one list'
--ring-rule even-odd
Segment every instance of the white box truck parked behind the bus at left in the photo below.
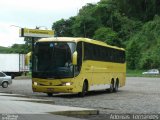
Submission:
{"label": "white box truck parked behind the bus at left", "polygon": [[0,71],[7,75],[20,76],[29,71],[25,65],[25,54],[0,54]]}

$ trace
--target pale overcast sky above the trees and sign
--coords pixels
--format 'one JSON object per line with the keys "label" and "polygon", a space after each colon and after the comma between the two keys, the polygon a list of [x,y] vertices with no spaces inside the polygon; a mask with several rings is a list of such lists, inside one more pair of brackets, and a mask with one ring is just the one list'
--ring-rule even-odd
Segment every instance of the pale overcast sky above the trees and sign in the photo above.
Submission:
{"label": "pale overcast sky above the trees and sign", "polygon": [[77,15],[87,3],[100,0],[0,0],[0,46],[23,44],[20,28],[51,29],[53,22]]}

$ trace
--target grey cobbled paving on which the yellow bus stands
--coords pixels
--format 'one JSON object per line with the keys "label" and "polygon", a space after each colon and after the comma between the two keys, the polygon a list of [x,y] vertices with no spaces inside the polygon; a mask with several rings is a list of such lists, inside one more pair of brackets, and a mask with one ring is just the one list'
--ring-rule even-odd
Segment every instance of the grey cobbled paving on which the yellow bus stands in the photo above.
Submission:
{"label": "grey cobbled paving on which the yellow bus stands", "polygon": [[160,78],[128,77],[126,86],[120,88],[117,93],[90,92],[84,98],[66,94],[47,97],[44,93],[33,93],[30,79],[13,80],[13,84],[9,88],[0,87],[0,91],[53,100],[57,105],[98,109],[99,116],[85,116],[85,118],[96,120],[97,117],[104,118],[109,113],[160,114],[159,88]]}

